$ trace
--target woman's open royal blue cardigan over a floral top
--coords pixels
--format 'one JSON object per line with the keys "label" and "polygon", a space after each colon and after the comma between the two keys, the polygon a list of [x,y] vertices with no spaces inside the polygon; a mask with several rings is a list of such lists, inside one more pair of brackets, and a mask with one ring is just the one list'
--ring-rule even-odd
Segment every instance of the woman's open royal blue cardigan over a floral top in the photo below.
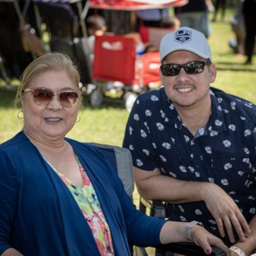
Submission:
{"label": "woman's open royal blue cardigan over a floral top", "polygon": [[[128,242],[154,247],[165,220],[141,214],[109,161],[94,146],[66,139],[90,178],[109,224],[115,255]],[[0,145],[0,255],[100,255],[70,190],[23,132]]]}

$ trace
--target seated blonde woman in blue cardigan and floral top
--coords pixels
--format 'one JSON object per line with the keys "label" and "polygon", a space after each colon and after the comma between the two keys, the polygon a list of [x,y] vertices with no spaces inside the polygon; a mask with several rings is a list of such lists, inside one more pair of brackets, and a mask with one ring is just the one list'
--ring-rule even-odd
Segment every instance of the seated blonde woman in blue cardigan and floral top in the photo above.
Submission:
{"label": "seated blonde woman in blue cardigan and floral top", "polygon": [[[186,223],[140,213],[93,146],[66,139],[81,105],[71,60],[48,53],[24,71],[16,102],[23,130],[0,146],[0,255],[129,255],[185,241]],[[199,225],[193,242],[228,248]]]}

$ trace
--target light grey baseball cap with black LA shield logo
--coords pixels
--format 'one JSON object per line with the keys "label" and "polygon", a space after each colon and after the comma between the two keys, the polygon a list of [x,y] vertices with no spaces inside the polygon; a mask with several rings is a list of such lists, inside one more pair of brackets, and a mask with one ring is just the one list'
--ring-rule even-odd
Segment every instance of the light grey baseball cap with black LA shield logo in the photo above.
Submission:
{"label": "light grey baseball cap with black LA shield logo", "polygon": [[212,61],[211,50],[206,37],[193,28],[180,27],[165,35],[160,43],[160,61],[163,62],[169,53],[179,50],[193,52]]}

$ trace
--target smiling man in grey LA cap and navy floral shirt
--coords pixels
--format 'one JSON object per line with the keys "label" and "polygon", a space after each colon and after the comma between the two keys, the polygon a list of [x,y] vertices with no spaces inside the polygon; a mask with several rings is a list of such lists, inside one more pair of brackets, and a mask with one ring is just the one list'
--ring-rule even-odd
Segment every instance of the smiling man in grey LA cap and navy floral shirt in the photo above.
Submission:
{"label": "smiling man in grey LA cap and navy floral shirt", "polygon": [[256,249],[256,106],[210,87],[216,67],[201,32],[169,33],[160,58],[164,87],[137,98],[123,144],[139,193],[167,201],[170,219],[201,221],[250,255]]}

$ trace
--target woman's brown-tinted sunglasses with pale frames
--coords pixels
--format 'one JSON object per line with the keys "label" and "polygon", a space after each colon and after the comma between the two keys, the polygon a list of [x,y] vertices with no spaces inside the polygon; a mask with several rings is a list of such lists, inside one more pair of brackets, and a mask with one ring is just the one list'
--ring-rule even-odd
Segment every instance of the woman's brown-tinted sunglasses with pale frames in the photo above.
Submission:
{"label": "woman's brown-tinted sunglasses with pale frames", "polygon": [[48,105],[55,95],[58,96],[58,100],[63,107],[73,107],[77,104],[77,101],[81,95],[81,92],[66,90],[58,93],[54,93],[50,89],[46,88],[26,88],[22,92],[31,92],[35,104],[39,106]]}

